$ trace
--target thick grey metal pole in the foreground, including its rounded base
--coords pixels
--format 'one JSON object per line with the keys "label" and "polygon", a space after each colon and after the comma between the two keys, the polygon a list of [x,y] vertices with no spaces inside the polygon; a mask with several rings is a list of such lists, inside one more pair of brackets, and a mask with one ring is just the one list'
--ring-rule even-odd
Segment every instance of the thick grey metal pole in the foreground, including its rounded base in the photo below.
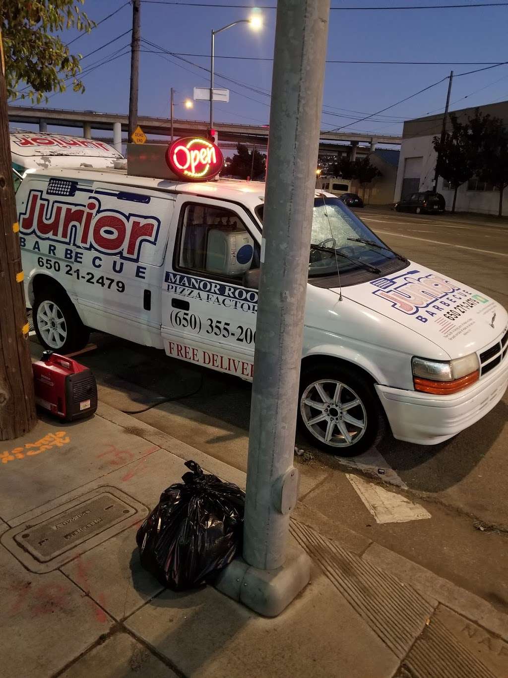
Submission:
{"label": "thick grey metal pole in the foreground, including its rounded base", "polygon": [[277,3],[244,561],[219,580],[265,616],[282,612],[310,578],[310,559],[287,542],[329,9],[330,0]]}

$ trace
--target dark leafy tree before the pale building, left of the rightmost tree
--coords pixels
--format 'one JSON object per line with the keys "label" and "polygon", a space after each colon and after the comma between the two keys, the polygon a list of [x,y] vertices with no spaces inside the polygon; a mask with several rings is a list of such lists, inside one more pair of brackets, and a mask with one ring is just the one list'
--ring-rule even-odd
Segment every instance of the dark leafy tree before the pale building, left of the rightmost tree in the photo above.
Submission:
{"label": "dark leafy tree before the pale building, left of the rightmost tree", "polygon": [[[443,140],[435,136],[432,140],[438,154],[436,169],[439,176],[450,182],[453,188],[452,214],[457,203],[459,186],[471,179],[480,167],[479,148],[482,144],[485,122],[481,113],[476,111],[473,119],[461,123],[456,115],[450,115],[452,129],[446,132]],[[474,148],[475,144],[478,144]]]}

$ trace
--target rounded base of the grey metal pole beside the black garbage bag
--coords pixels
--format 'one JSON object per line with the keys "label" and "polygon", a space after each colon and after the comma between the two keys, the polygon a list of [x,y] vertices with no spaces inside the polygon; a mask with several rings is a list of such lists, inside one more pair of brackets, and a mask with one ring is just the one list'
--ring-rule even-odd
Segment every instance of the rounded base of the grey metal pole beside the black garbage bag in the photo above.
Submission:
{"label": "rounded base of the grey metal pole beside the black garbage bag", "polygon": [[265,617],[276,617],[310,582],[311,561],[299,546],[288,546],[276,570],[259,570],[236,558],[221,572],[215,588]]}

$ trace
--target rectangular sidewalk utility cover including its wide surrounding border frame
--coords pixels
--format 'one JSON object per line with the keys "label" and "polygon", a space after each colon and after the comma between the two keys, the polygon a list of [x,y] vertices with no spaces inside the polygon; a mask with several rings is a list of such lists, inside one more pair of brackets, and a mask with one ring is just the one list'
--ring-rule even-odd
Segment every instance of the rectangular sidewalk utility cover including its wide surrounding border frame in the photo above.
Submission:
{"label": "rectangular sidewalk utility cover including its wide surrounding border frame", "polygon": [[[28,511],[6,530],[1,543],[30,572],[52,572],[129,527],[139,525],[148,508],[118,487],[102,485],[49,511]],[[133,538],[133,544],[134,544]]]}

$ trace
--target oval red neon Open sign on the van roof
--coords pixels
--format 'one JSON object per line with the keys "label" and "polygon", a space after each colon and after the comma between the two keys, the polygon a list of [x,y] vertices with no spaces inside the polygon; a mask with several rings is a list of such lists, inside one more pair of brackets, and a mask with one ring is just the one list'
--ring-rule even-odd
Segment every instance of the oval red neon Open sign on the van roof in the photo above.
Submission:
{"label": "oval red neon Open sign on the van roof", "polygon": [[186,137],[177,139],[166,151],[168,167],[187,181],[206,181],[222,169],[224,156],[215,144],[206,139]]}

